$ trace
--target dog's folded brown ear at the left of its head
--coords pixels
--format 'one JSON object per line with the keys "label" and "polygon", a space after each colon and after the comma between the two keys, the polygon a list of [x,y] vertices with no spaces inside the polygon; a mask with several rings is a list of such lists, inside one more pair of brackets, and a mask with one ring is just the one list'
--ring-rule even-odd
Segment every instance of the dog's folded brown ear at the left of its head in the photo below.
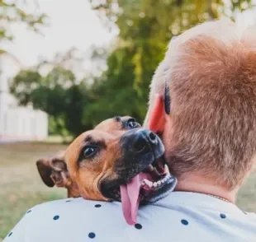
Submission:
{"label": "dog's folded brown ear at the left of its head", "polygon": [[36,161],[37,170],[46,186],[52,188],[68,187],[71,184],[69,172],[64,161],[64,151],[58,152],[50,158],[42,158]]}

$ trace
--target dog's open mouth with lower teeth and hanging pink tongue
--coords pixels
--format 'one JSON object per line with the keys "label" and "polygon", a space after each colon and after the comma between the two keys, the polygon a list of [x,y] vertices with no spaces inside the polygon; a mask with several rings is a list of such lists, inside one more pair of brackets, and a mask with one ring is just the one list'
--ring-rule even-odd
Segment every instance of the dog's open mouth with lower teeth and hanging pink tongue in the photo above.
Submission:
{"label": "dog's open mouth with lower teeth and hanging pink tongue", "polygon": [[112,198],[122,203],[123,214],[129,225],[134,225],[140,204],[155,202],[176,185],[176,179],[164,164],[164,157],[155,160],[129,183],[109,190]]}

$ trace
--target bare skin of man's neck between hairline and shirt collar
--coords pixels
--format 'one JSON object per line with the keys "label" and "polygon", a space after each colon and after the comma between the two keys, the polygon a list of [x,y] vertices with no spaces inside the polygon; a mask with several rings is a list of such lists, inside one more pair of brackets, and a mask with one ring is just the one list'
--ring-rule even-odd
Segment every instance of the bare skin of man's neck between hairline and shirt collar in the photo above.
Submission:
{"label": "bare skin of man's neck between hairline and shirt collar", "polygon": [[235,203],[237,190],[230,191],[217,185],[213,179],[206,179],[200,175],[182,175],[178,177],[176,191],[204,193],[211,196],[224,198],[229,202]]}

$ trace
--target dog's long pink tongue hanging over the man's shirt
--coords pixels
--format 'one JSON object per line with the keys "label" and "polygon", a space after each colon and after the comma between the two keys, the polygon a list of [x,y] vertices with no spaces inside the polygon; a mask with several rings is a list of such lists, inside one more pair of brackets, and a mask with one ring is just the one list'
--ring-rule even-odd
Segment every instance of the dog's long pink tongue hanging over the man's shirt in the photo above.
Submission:
{"label": "dog's long pink tongue hanging over the man's shirt", "polygon": [[136,175],[129,184],[121,185],[120,189],[121,205],[126,222],[134,225],[140,204],[140,175]]}

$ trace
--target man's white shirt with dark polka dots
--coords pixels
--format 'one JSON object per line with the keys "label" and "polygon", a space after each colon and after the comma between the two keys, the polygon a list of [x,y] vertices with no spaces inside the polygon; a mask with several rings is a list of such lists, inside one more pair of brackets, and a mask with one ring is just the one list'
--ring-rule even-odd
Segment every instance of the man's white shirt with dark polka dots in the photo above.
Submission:
{"label": "man's white shirt with dark polka dots", "polygon": [[71,198],[32,207],[3,241],[256,241],[256,214],[205,194],[173,192],[140,207],[129,226],[120,202]]}

